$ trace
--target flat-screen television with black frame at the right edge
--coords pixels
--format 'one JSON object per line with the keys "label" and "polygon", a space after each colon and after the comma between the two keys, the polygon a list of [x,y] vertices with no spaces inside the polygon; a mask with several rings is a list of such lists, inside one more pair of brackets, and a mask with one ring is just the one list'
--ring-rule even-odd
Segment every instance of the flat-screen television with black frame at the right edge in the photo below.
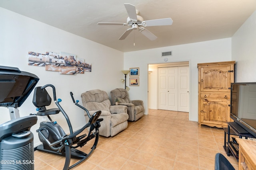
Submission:
{"label": "flat-screen television with black frame at the right edge", "polygon": [[256,137],[256,82],[231,83],[230,117]]}

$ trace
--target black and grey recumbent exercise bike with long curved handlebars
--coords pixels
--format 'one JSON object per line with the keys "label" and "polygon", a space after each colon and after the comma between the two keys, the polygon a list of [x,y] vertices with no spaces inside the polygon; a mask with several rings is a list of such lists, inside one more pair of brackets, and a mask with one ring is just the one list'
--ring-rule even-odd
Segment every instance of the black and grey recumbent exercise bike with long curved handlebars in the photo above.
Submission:
{"label": "black and grey recumbent exercise bike with long curved handlebars", "polygon": [[[58,108],[52,108],[52,109],[46,109],[46,106],[49,106],[51,104],[52,99],[50,98],[48,92],[46,91],[46,87],[51,87],[53,90],[53,98],[56,106]],[[36,87],[34,89],[34,96],[33,96],[33,104],[37,108],[36,115],[38,116],[47,116],[49,121],[44,121],[40,123],[40,127],[36,132],[38,132],[38,137],[40,141],[42,142],[41,145],[36,147],[35,150],[42,150],[58,155],[62,155],[66,157],[65,165],[63,170],[68,170],[71,168],[74,168],[74,166],[77,166],[90,154],[92,154],[93,150],[96,149],[96,146],[98,144],[99,140],[99,127],[100,127],[100,121],[103,119],[98,119],[98,117],[101,114],[101,111],[96,111],[92,116],[90,116],[89,111],[84,108],[83,106],[79,105],[79,100],[74,100],[72,92],[70,92],[71,98],[74,102],[74,104],[83,110],[86,111],[88,117],[90,117],[88,123],[84,125],[81,129],[79,129],[76,132],[73,132],[72,125],[70,123],[70,119],[68,118],[68,115],[64,111],[64,109],[60,106],[61,99],[56,100],[56,91],[55,87],[52,84],[46,84],[42,87]],[[64,130],[58,125],[56,121],[52,121],[50,115],[58,114],[59,112],[62,112],[64,117],[66,118],[66,121],[68,123],[70,134],[67,135]],[[90,127],[90,128],[88,128]],[[84,133],[84,130],[88,128],[90,129],[88,133]],[[88,143],[90,140],[94,139],[94,143],[92,143],[92,147],[88,149],[88,153],[84,153],[80,150],[77,150],[78,147],[83,147]],[[70,159],[71,158],[78,158],[80,159],[78,162],[73,164],[72,166],[69,166]]]}

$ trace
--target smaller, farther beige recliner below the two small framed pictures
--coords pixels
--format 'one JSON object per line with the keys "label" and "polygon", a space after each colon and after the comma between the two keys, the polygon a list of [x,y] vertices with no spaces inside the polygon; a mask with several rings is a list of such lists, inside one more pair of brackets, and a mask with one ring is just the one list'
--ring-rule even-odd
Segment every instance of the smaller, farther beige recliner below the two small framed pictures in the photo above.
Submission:
{"label": "smaller, farther beige recliner below the two small framed pictures", "polygon": [[112,105],[118,99],[119,105],[128,106],[127,113],[130,121],[136,121],[144,115],[144,106],[142,100],[130,100],[127,90],[123,88],[116,88],[110,92],[112,98]]}

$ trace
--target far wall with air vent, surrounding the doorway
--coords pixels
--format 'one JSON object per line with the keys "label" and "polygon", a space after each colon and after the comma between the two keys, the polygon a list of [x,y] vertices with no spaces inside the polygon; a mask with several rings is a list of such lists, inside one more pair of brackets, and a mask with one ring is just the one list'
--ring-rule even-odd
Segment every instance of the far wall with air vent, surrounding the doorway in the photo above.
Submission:
{"label": "far wall with air vent, surrounding the doorway", "polygon": [[[166,63],[164,61],[165,57],[161,57],[161,52],[166,51],[172,51],[172,56],[168,57],[167,62],[189,62],[189,119],[191,121],[198,121],[197,63],[231,61],[231,38],[124,53],[124,69],[129,69],[133,67],[140,68],[140,86],[130,86],[130,98],[132,100],[143,100],[145,108],[148,108],[148,64]],[[154,76],[154,74],[157,74],[156,71],[157,70],[153,70],[150,76]],[[155,79],[154,81],[157,80]],[[149,98],[150,101],[155,100],[157,102],[157,96],[152,95],[149,96]]]}

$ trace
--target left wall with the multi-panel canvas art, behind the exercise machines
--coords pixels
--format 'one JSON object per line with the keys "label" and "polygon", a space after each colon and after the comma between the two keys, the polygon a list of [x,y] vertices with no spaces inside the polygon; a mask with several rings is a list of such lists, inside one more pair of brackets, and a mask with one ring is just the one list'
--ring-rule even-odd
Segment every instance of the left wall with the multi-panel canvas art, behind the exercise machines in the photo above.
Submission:
{"label": "left wall with the multi-panel canvas art, behind the exercise machines", "polygon": [[[123,69],[124,63],[122,52],[4,8],[0,8],[0,23],[0,65],[18,67],[22,71],[36,74],[40,78],[37,86],[53,84],[56,87],[57,98],[62,99],[60,104],[68,113],[74,130],[84,126],[86,121],[84,111],[73,104],[70,91],[74,93],[75,99],[81,100],[81,93],[87,90],[99,88],[105,90],[110,96],[112,89],[123,87],[120,81],[123,78],[120,71]],[[85,59],[86,63],[92,64],[92,72],[64,75],[46,71],[44,67],[29,66],[29,51],[72,53]],[[49,90],[51,89],[49,88]],[[49,106],[49,108],[52,107],[56,107],[55,104]],[[32,94],[19,107],[19,110],[21,116],[36,113],[36,107],[32,104]],[[0,116],[0,123],[10,120],[9,111],[5,107],[0,107]],[[68,132],[67,123],[61,113],[53,115],[52,119],[58,121],[64,131]],[[32,127],[35,146],[39,144],[36,129],[38,129],[40,121],[42,121],[41,117],[38,117],[38,123]]]}

